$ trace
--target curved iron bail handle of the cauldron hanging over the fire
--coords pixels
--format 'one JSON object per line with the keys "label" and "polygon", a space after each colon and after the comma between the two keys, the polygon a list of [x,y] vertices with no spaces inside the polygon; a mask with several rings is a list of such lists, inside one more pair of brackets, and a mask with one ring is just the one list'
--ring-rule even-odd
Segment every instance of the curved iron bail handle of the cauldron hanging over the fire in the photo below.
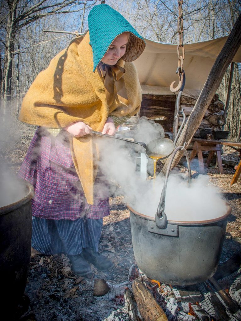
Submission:
{"label": "curved iron bail handle of the cauldron hanging over the fire", "polygon": [[183,150],[184,154],[186,156],[186,160],[187,160],[187,169],[188,169],[188,183],[190,183],[191,178],[192,178],[192,173],[191,173],[191,167],[190,167],[190,161],[189,161],[189,157],[188,157],[188,152],[187,150],[183,147],[183,146],[178,146],[176,147],[176,149],[172,152],[171,158],[168,162],[168,168],[167,168],[167,173],[166,173],[166,177],[165,177],[165,182],[163,185],[163,189],[161,192],[161,197],[160,197],[160,202],[157,208],[157,213],[155,215],[155,221],[156,221],[156,226],[159,229],[166,229],[167,227],[167,215],[164,212],[165,210],[165,200],[166,200],[166,191],[167,191],[167,183],[168,183],[168,176],[171,170],[171,165],[173,162],[173,159],[176,155],[176,153],[179,150]]}

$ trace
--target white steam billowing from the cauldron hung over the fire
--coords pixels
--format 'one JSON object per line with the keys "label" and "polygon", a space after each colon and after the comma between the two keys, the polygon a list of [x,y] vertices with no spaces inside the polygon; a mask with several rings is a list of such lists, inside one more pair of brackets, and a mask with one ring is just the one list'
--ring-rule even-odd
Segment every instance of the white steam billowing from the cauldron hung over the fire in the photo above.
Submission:
{"label": "white steam billowing from the cauldron hung over the fire", "polygon": [[[135,140],[148,143],[158,137],[157,124],[150,126],[150,122],[142,119],[141,125]],[[98,145],[101,150],[99,167],[107,180],[121,187],[125,201],[135,211],[154,217],[165,177],[159,175],[155,181],[140,178],[140,173],[135,171],[135,153],[137,150],[144,153],[144,148],[110,138],[99,138]],[[115,193],[115,188],[111,192]],[[188,184],[187,172],[180,174],[174,170],[168,178],[165,213],[171,221],[205,221],[225,215],[227,205],[219,188],[210,184],[207,175],[199,175]]]}

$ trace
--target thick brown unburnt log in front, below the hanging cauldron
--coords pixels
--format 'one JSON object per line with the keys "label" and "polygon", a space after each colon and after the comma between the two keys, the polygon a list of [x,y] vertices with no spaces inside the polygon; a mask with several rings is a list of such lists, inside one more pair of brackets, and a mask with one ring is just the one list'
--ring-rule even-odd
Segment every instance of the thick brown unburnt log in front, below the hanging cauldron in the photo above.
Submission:
{"label": "thick brown unburnt log in front, below the hanging cauldron", "polygon": [[142,277],[133,282],[132,291],[143,321],[167,321],[164,311],[142,282]]}

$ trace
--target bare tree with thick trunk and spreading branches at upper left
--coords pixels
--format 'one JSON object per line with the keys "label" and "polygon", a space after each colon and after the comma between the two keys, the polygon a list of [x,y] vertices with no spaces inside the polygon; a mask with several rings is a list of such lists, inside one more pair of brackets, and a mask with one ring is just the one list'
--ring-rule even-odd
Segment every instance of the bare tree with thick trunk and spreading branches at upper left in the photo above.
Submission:
{"label": "bare tree with thick trunk and spreading branches at upper left", "polygon": [[[86,8],[87,1],[76,0],[3,0],[0,12],[0,26],[4,30],[1,40],[4,49],[2,92],[4,101],[12,98],[13,59],[16,49],[16,35],[22,29],[38,20],[53,15],[73,14]],[[96,0],[88,0],[89,5]]]}

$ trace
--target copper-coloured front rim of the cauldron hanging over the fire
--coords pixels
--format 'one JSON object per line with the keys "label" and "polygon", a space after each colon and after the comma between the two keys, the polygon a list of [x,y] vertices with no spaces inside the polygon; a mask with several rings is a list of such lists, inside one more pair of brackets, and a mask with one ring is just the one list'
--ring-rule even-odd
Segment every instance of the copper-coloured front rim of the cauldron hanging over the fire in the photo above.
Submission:
{"label": "copper-coloured front rim of the cauldron hanging over the fire", "polygon": [[[226,220],[228,218],[228,216],[231,214],[231,206],[226,202],[226,206],[227,206],[227,213],[224,214],[223,216],[217,217],[215,219],[212,220],[205,220],[205,221],[171,221],[168,220],[168,224],[177,224],[177,225],[206,225],[206,224],[212,224],[218,221],[222,221],[222,220]],[[155,217],[152,216],[148,216],[142,213],[139,213],[137,211],[135,211],[130,205],[127,204],[127,208],[136,216],[140,216],[142,219],[144,220],[148,220],[148,221],[153,221],[155,222]],[[167,215],[167,219],[168,219],[168,215]]]}

